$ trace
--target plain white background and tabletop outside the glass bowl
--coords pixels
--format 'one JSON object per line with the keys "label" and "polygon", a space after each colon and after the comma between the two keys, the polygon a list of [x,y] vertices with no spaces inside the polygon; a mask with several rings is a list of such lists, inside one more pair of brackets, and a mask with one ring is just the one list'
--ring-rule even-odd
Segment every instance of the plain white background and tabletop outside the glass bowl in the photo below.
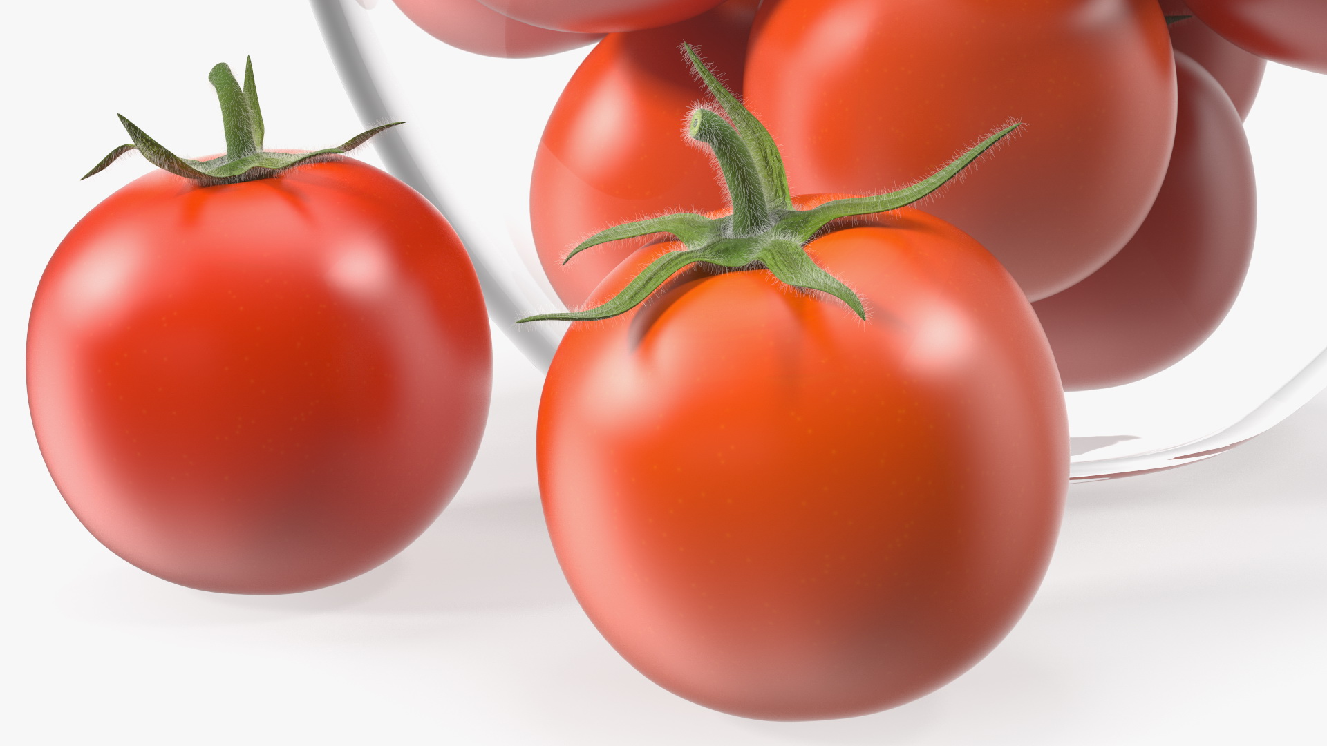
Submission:
{"label": "plain white background and tabletop outside the glass bowl", "polygon": [[[0,40],[0,742],[1327,742],[1324,397],[1212,461],[1074,486],[1050,575],[1010,637],[940,692],[847,721],[714,713],[613,653],[544,534],[540,376],[500,335],[471,478],[397,559],[281,597],[192,591],[130,567],[64,506],[24,398],[41,268],[84,212],[147,166],[134,157],[77,177],[126,141],[117,112],[183,154],[219,150],[206,73],[244,54],[259,64],[271,146],[324,146],[360,127],[300,0],[16,3]],[[569,72],[575,60],[551,64]]]}

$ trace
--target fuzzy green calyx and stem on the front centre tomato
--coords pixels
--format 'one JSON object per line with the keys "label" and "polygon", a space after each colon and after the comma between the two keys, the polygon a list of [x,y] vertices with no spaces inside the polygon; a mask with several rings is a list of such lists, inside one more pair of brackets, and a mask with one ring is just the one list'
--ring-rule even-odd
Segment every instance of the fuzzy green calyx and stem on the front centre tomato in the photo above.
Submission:
{"label": "fuzzy green calyx and stem on the front centre tomato", "polygon": [[867,309],[857,293],[812,261],[805,250],[811,239],[833,220],[885,212],[917,202],[1023,126],[1022,122],[1015,122],[998,130],[947,166],[898,191],[836,199],[798,210],[792,206],[783,158],[768,130],[719,82],[691,45],[683,44],[682,50],[697,77],[718,102],[718,110],[702,105],[691,112],[687,135],[714,151],[733,212],[722,218],[677,212],[624,223],[594,234],[573,248],[564,263],[593,246],[656,234],[670,235],[682,247],[656,259],[602,305],[565,313],[540,313],[520,319],[518,324],[610,319],[636,308],[674,273],[697,263],[722,269],[768,269],[788,285],[837,297],[853,313],[865,319]]}

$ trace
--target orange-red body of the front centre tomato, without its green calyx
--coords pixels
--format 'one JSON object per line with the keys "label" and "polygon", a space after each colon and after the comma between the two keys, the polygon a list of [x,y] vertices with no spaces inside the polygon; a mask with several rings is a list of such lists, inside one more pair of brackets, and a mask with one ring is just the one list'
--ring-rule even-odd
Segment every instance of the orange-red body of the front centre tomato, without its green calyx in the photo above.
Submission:
{"label": "orange-red body of the front centre tomato, without its green calyx", "polygon": [[867,321],[766,271],[691,272],[572,325],[549,369],[563,571],[632,665],[701,705],[817,719],[920,697],[1009,632],[1050,558],[1068,434],[1036,319],[951,226],[877,223],[811,244]]}

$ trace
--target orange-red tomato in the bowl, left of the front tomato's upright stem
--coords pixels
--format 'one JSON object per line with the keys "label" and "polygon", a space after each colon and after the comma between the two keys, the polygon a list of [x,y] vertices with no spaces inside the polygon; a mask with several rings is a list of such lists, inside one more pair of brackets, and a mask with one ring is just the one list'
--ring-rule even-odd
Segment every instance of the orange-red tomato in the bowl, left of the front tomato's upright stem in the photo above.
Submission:
{"label": "orange-red tomato in the bowl, left of the front tomato's upright stem", "polygon": [[563,264],[587,236],[669,211],[725,206],[713,159],[682,126],[705,90],[683,64],[689,41],[740,94],[746,36],[758,3],[730,0],[665,28],[613,33],[576,70],[535,155],[529,216],[557,296],[576,308],[644,242],[594,247]]}

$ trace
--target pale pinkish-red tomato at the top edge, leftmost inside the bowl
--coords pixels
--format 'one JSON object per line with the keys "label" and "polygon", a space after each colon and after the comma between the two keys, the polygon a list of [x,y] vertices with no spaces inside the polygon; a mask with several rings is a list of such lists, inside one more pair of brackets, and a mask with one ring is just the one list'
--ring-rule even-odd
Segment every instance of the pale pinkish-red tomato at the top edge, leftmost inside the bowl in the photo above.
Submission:
{"label": "pale pinkish-red tomato at the top edge, leftmost inside the bowl", "polygon": [[490,57],[540,57],[593,42],[596,33],[549,31],[494,11],[479,0],[394,0],[434,38]]}

